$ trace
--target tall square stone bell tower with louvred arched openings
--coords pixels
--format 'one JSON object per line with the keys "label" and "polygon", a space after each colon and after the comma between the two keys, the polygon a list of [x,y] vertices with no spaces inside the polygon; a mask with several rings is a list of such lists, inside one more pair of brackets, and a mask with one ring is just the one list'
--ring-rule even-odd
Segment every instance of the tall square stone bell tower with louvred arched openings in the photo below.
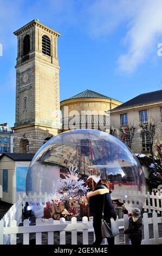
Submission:
{"label": "tall square stone bell tower with louvred arched openings", "polygon": [[57,38],[60,33],[33,20],[18,29],[15,153],[36,153],[60,128]]}

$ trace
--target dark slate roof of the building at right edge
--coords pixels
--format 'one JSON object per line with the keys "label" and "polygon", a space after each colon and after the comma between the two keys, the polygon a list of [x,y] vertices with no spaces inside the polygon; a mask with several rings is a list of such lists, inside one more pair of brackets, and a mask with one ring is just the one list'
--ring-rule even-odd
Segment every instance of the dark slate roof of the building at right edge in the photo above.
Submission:
{"label": "dark slate roof of the building at right edge", "polygon": [[113,110],[121,109],[125,107],[132,107],[132,106],[154,102],[154,101],[160,101],[160,100],[162,100],[162,90],[156,90],[154,92],[140,94],[134,97],[133,99],[128,100],[125,103],[122,103],[120,106],[115,107]]}

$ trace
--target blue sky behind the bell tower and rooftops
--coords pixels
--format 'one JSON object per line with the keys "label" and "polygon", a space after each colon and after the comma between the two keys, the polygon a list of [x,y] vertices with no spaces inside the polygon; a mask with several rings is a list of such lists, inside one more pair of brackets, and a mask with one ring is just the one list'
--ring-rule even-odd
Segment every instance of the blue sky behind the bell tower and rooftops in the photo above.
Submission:
{"label": "blue sky behind the bell tower and rooftops", "polygon": [[0,123],[15,122],[18,28],[39,19],[61,33],[61,100],[92,89],[124,102],[162,89],[161,11],[161,0],[0,0]]}

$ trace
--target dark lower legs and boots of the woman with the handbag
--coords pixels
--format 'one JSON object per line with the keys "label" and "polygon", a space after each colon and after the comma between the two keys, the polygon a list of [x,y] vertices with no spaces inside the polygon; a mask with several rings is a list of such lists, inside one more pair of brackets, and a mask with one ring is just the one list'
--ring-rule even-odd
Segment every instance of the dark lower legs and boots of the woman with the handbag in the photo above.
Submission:
{"label": "dark lower legs and boots of the woman with the handbag", "polygon": [[[99,246],[103,240],[102,231],[101,231],[101,220],[94,219],[93,221],[94,233],[95,233],[95,242],[93,245]],[[107,238],[108,245],[114,245],[114,237]]]}

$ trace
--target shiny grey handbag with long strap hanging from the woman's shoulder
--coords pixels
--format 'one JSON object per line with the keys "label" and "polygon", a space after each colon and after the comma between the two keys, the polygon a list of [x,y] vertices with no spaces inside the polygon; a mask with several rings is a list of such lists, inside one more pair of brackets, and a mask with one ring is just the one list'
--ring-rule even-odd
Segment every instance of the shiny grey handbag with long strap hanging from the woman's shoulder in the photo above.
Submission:
{"label": "shiny grey handbag with long strap hanging from the woman's shoulder", "polygon": [[116,226],[114,218],[110,219],[110,223],[107,223],[104,220],[103,218],[104,208],[105,208],[105,195],[103,199],[102,220],[101,220],[102,237],[114,237],[116,235],[119,235],[119,228]]}

